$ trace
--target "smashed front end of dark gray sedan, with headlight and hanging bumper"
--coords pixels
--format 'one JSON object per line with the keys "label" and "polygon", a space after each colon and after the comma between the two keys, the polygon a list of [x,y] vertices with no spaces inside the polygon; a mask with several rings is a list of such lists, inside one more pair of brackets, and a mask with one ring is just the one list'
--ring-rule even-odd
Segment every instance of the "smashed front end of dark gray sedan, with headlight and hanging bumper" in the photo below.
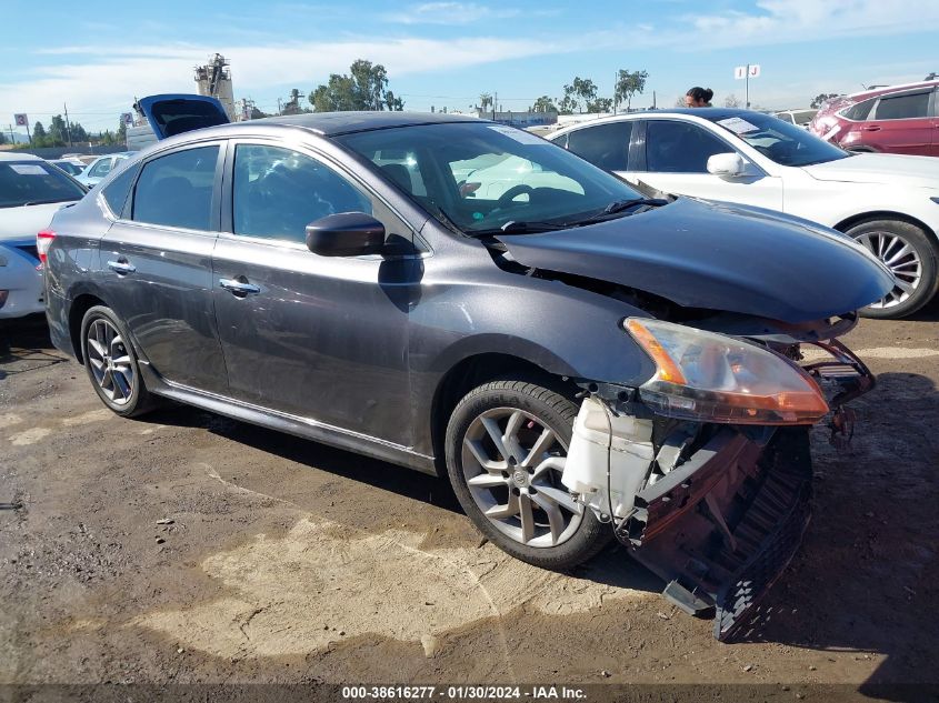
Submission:
{"label": "smashed front end of dark gray sedan, with headlight and hanging bumper", "polygon": [[[828,418],[843,445],[853,431],[843,403],[873,386],[833,339],[856,318],[829,322],[796,329],[750,318],[731,332],[746,337],[730,337],[630,319],[625,330],[656,375],[638,389],[582,383],[565,485],[665,580],[672,603],[689,614],[713,609],[721,641],[747,626],[801,542],[809,428]],[[805,362],[806,345],[823,358]]]}

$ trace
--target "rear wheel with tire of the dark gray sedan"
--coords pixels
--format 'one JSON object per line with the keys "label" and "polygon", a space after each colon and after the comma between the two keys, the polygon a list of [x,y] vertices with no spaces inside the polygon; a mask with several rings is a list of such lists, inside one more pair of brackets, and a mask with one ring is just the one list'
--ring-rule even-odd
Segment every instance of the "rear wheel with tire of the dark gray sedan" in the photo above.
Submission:
{"label": "rear wheel with tire of the dark gray sedan", "polygon": [[81,353],[94,391],[113,412],[131,418],[152,409],[133,347],[110,308],[94,305],[84,313]]}

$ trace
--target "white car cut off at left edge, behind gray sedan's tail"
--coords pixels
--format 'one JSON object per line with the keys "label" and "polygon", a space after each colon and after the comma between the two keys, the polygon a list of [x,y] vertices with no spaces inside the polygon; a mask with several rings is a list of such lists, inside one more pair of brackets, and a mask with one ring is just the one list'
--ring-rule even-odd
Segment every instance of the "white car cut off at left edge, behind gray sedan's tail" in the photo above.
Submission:
{"label": "white car cut off at left edge, behind gray sedan's tail", "polygon": [[0,153],[0,319],[46,310],[36,234],[82,195],[70,175],[39,157]]}

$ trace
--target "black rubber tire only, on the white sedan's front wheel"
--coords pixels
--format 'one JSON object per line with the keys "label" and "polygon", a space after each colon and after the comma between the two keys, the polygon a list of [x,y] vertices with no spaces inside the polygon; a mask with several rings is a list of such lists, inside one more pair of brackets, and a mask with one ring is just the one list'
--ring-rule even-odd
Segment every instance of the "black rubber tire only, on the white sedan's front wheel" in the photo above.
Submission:
{"label": "black rubber tire only, on the white sedan's front wheel", "polygon": [[[939,289],[939,254],[937,254],[936,244],[929,235],[918,228],[916,224],[903,222],[902,220],[866,220],[851,227],[846,234],[858,240],[861,243],[871,242],[876,240],[879,234],[896,237],[905,244],[908,244],[920,261],[920,278],[918,284],[912,292],[902,291],[895,288],[888,293],[887,300],[892,301],[891,304],[885,305],[883,301],[876,303],[873,307],[867,307],[860,310],[860,314],[865,318],[877,318],[882,320],[897,320],[912,314],[926,303],[932,300]],[[876,247],[867,245],[868,250],[877,255]],[[897,251],[896,247],[891,248],[886,258],[889,259],[891,252]],[[881,258],[883,260],[885,258]],[[906,264],[899,270],[895,269],[895,273],[899,273],[898,279],[902,279],[903,274],[912,270],[912,254],[893,262],[893,267],[898,263]],[[888,264],[889,265],[889,264]],[[896,302],[896,300],[906,294],[907,297]]]}

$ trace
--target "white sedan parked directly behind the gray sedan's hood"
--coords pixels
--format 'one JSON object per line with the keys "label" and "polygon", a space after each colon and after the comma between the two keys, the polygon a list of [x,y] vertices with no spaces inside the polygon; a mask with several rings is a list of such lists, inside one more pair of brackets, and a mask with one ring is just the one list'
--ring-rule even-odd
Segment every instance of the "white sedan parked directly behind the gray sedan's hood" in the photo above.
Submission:
{"label": "white sedan parked directly behind the gray sedan's hood", "polygon": [[939,289],[939,159],[849,153],[772,116],[721,108],[633,112],[549,139],[633,183],[845,232],[896,278],[868,317],[908,315]]}

